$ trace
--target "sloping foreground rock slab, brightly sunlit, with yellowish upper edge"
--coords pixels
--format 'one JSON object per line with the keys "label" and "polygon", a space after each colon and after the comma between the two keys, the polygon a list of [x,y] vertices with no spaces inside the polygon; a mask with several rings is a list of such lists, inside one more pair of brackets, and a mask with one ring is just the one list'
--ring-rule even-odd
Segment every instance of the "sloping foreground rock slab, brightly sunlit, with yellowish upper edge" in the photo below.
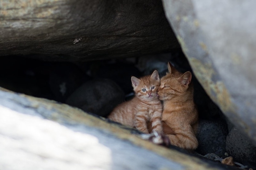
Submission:
{"label": "sloping foreground rock slab, brightly sunlit, with yellowish upper edge", "polygon": [[66,104],[0,89],[0,169],[232,169]]}

